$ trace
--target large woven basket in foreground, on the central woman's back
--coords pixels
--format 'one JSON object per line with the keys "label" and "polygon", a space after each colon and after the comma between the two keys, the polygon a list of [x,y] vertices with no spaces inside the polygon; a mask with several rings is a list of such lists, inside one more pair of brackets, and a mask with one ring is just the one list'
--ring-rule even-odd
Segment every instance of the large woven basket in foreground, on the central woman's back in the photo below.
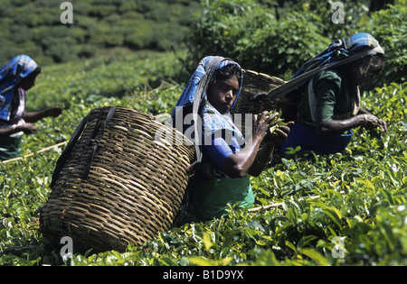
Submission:
{"label": "large woven basket in foreground, on the central woman's back", "polygon": [[[40,216],[44,236],[71,236],[75,251],[124,251],[167,231],[194,160],[194,144],[172,127],[124,107],[104,125],[109,110],[91,111]],[[163,127],[172,141],[156,141]]]}

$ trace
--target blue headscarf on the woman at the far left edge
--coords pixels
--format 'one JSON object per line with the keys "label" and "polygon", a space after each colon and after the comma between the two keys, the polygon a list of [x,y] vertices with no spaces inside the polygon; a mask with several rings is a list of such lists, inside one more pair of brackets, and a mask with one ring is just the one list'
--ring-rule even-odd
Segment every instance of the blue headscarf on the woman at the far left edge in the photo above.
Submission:
{"label": "blue headscarf on the woman at the far left edge", "polygon": [[37,67],[29,56],[19,55],[0,69],[0,119],[10,119],[15,87]]}

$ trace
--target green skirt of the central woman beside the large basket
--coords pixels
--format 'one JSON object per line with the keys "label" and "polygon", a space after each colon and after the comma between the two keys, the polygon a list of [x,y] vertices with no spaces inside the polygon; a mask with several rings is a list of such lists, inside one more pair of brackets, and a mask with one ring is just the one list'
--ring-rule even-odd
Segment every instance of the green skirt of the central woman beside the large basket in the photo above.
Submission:
{"label": "green skirt of the central woman beside the large basket", "polygon": [[253,203],[250,178],[197,180],[189,190],[187,203],[180,210],[176,224],[227,215],[228,204],[251,207]]}

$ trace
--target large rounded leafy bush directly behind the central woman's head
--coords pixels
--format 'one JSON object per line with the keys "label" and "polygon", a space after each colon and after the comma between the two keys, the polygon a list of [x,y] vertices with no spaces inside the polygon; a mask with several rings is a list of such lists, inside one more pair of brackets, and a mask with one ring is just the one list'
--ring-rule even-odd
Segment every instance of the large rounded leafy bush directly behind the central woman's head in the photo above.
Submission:
{"label": "large rounded leafy bush directly behind the central woman's head", "polygon": [[278,20],[257,1],[208,2],[186,37],[190,61],[217,54],[246,69],[282,76],[326,48],[321,24],[312,13],[292,12]]}

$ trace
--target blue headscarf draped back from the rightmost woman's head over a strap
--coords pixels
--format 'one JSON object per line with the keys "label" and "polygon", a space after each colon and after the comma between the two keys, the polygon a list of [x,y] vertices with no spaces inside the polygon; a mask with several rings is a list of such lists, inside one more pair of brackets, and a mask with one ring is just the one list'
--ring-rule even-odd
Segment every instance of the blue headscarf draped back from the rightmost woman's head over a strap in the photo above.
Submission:
{"label": "blue headscarf draped back from the rightmost woman's head over a strap", "polygon": [[372,52],[370,54],[384,54],[384,50],[380,46],[379,41],[376,41],[371,34],[366,32],[356,33],[347,40],[336,40],[329,44],[327,50],[322,51],[315,58],[309,60],[298,69],[293,78],[311,69],[344,60],[365,50],[371,50]]}

